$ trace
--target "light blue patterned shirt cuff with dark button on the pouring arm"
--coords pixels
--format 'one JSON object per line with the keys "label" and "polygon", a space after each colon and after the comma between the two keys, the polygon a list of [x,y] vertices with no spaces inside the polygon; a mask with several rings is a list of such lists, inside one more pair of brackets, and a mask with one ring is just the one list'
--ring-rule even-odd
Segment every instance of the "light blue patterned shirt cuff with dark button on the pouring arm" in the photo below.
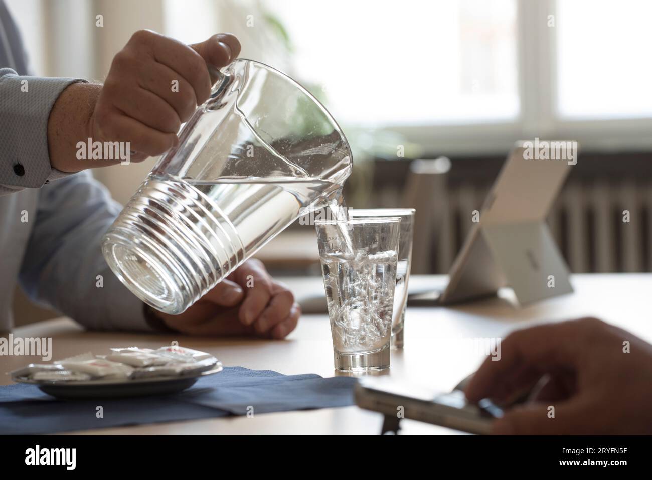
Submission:
{"label": "light blue patterned shirt cuff with dark button on the pouring arm", "polygon": [[19,76],[0,68],[0,185],[39,188],[61,178],[50,165],[48,119],[59,95],[81,78]]}

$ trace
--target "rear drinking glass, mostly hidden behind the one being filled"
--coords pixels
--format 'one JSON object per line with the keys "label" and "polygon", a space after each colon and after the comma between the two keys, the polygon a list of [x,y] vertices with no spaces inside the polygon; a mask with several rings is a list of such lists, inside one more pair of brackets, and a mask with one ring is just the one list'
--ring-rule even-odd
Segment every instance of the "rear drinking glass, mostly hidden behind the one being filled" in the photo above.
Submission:
{"label": "rear drinking glass, mostly hidden behind the one being filled", "polygon": [[413,208],[368,208],[349,209],[349,217],[400,217],[401,233],[398,240],[398,265],[396,267],[396,290],[394,292],[394,313],[392,315],[393,348],[403,348],[403,331],[408,306],[409,271],[412,262],[412,238],[414,232]]}

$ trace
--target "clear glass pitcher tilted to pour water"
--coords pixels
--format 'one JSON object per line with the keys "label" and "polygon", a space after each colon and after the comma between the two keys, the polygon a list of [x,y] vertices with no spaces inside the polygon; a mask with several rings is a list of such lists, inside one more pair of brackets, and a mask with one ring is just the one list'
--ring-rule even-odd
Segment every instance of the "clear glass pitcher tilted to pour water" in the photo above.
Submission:
{"label": "clear glass pitcher tilted to pour water", "polygon": [[169,314],[340,194],[351,151],[333,117],[274,68],[237,59],[102,239],[111,270]]}

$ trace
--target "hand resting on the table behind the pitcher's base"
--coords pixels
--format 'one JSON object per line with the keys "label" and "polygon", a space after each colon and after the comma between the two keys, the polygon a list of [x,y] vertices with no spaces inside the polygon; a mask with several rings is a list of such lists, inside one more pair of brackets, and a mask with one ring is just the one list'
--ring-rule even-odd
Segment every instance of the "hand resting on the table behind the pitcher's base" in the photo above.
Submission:
{"label": "hand resting on the table behind the pitcher's base", "polygon": [[247,260],[179,315],[155,312],[168,327],[188,335],[254,335],[284,338],[301,308],[259,260]]}

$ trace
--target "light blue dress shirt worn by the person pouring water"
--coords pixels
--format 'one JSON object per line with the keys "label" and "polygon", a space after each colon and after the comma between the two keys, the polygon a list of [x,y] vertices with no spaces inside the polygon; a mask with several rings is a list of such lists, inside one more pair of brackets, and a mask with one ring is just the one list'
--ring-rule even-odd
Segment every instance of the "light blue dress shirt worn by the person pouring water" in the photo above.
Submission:
{"label": "light blue dress shirt worn by the person pouring water", "polygon": [[100,252],[121,207],[89,172],[50,165],[50,110],[68,85],[85,80],[27,74],[18,27],[0,0],[0,331],[12,326],[16,277],[37,303],[91,329],[151,330],[143,303]]}

